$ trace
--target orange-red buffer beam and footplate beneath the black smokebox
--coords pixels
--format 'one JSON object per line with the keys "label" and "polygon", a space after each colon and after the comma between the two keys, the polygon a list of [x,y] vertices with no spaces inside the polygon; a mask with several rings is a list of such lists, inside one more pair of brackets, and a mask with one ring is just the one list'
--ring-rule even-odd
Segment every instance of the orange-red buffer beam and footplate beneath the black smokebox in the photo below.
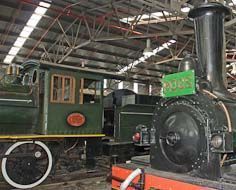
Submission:
{"label": "orange-red buffer beam and footplate beneath the black smokebox", "polygon": [[[137,189],[140,184],[143,185],[143,190],[215,190],[236,189],[236,166],[225,171],[223,178],[220,181],[202,179],[193,176],[191,173],[176,174],[172,172],[160,171],[150,167],[149,156],[137,156],[132,158],[131,163],[113,165],[112,167],[112,189],[121,189],[121,184],[127,177],[140,168],[144,171],[143,181],[141,175],[137,175],[130,182],[128,190]],[[161,163],[160,163],[161,164]]]}

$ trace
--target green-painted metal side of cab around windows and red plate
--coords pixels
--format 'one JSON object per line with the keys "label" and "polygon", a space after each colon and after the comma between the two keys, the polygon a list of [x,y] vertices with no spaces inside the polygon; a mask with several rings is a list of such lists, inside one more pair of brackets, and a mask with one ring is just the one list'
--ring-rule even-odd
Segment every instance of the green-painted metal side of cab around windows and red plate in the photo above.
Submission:
{"label": "green-painted metal side of cab around windows and red plate", "polygon": [[[60,103],[52,101],[53,76],[65,76],[74,79],[73,103]],[[96,101],[80,102],[81,79],[97,81],[99,97]],[[37,133],[47,135],[89,135],[101,134],[103,116],[103,77],[98,74],[73,71],[67,69],[49,68],[44,71],[44,90],[40,99],[43,105],[40,109],[41,124]],[[84,95],[86,96],[86,95]],[[42,100],[43,99],[43,100]],[[86,97],[84,97],[86,99]],[[67,122],[71,113],[80,113],[85,117],[85,123],[73,127]]]}

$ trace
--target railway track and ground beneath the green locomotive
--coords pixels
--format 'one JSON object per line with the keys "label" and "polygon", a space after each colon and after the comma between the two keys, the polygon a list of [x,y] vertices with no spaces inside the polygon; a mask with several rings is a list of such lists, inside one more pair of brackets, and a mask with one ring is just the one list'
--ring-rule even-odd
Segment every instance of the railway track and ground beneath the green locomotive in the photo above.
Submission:
{"label": "railway track and ground beneath the green locomotive", "polygon": [[[106,159],[98,159],[94,169],[80,169],[69,172],[65,169],[57,170],[55,175],[50,175],[41,185],[32,190],[93,190],[110,189],[106,181],[110,172]],[[99,187],[99,188],[98,188]],[[0,190],[16,190],[9,186],[3,179],[0,180]]]}

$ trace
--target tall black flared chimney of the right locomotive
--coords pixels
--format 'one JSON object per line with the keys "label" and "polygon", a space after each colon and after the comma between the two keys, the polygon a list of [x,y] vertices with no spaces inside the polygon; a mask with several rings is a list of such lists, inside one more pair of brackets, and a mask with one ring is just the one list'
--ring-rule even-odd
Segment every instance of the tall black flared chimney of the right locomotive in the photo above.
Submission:
{"label": "tall black flared chimney of the right locomotive", "polygon": [[235,99],[226,88],[224,18],[230,10],[220,3],[205,3],[193,9],[198,67],[211,83],[213,93],[224,100]]}

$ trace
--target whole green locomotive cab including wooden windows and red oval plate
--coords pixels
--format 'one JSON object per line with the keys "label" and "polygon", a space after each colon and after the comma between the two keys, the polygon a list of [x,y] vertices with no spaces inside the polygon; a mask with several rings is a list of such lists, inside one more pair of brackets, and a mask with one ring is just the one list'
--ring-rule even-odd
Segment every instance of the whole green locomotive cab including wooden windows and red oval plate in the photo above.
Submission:
{"label": "whole green locomotive cab including wooden windows and red oval plate", "polygon": [[44,88],[40,89],[42,105],[37,133],[99,136],[102,130],[103,76],[56,66],[42,65],[41,68],[40,83]]}

